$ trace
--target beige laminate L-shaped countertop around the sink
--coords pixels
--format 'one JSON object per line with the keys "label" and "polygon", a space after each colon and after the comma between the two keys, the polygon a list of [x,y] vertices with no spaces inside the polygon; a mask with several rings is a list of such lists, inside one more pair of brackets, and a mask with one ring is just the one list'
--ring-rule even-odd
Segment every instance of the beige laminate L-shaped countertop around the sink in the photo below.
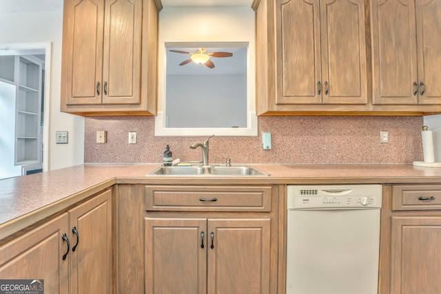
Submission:
{"label": "beige laminate L-shaped countertop around the sink", "polygon": [[114,184],[239,185],[438,183],[441,168],[413,165],[253,165],[270,176],[146,176],[158,165],[79,165],[0,180],[0,241]]}

